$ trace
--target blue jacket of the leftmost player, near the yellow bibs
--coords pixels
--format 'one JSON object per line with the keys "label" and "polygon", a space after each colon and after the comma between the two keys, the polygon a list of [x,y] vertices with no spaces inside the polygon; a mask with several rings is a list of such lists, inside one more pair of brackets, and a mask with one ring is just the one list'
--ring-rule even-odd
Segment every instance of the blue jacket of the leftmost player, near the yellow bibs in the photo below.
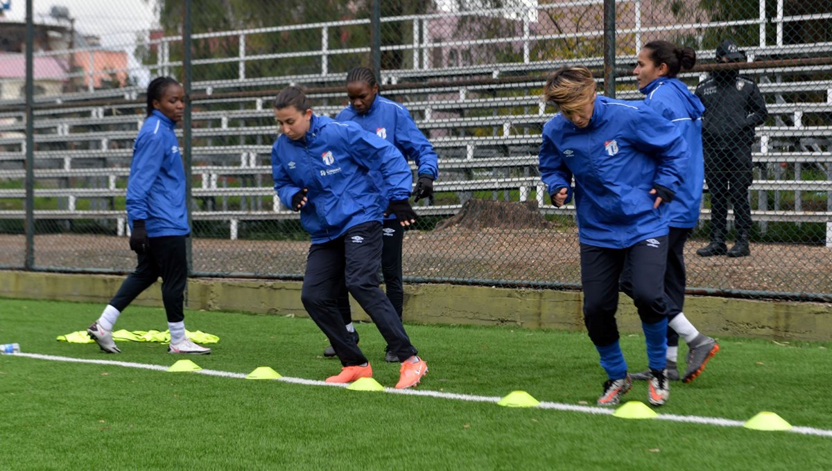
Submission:
{"label": "blue jacket of the leftmost player, near the yellow bibs", "polygon": [[185,167],[174,129],[176,122],[153,110],[136,143],[127,180],[127,218],[145,220],[147,237],[191,233],[185,202]]}

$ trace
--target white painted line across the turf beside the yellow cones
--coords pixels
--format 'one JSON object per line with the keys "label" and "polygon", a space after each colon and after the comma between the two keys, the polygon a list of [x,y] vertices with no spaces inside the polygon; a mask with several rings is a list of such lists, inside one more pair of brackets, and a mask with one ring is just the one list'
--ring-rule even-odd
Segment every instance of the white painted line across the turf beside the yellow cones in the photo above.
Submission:
{"label": "white painted line across the turf beside the yellow cones", "polygon": [[[111,365],[111,366],[124,366],[126,368],[139,368],[142,370],[154,370],[154,371],[167,371],[168,366],[160,366],[160,365],[148,365],[146,363],[131,363],[128,361],[112,361],[112,360],[90,360],[85,358],[72,358],[71,356],[53,356],[53,355],[41,355],[39,353],[17,353],[11,356],[24,356],[27,358],[35,358],[37,360],[49,360],[49,361],[69,361],[72,363],[92,363],[94,365]],[[220,370],[196,370],[191,371],[191,373],[196,373],[198,375],[210,375],[210,376],[221,376],[224,378],[235,378],[235,379],[245,379],[247,376],[245,373],[234,373],[231,371],[220,371]],[[278,378],[277,381],[283,381],[285,383],[294,383],[297,385],[314,385],[314,386],[334,386],[334,387],[346,387],[347,385],[344,384],[332,384],[326,383],[324,381],[319,380],[305,380],[304,378],[292,378],[289,376],[283,376]],[[497,403],[499,400],[503,399],[498,396],[487,396],[487,395],[465,395],[465,394],[457,394],[457,393],[446,393],[443,391],[433,391],[433,390],[414,390],[414,389],[406,389],[406,390],[397,390],[394,388],[384,388],[384,392],[394,393],[394,394],[401,394],[401,395],[418,395],[418,396],[428,396],[428,397],[437,397],[440,399],[452,399],[452,400],[467,400],[470,402],[493,402]],[[615,410],[613,409],[606,409],[602,407],[592,407],[588,405],[571,405],[571,404],[561,404],[557,402],[545,402],[541,401],[540,405],[537,406],[540,409],[552,409],[552,410],[566,410],[569,412],[580,412],[582,414],[594,414],[594,415],[612,415]],[[742,427],[745,422],[742,420],[733,420],[733,419],[723,419],[721,417],[700,417],[697,415],[675,415],[675,414],[659,414],[656,416],[658,420],[671,420],[672,422],[684,422],[687,424],[706,424],[706,425],[717,425],[721,427]],[[805,434],[805,435],[817,435],[821,437],[830,437],[832,438],[832,430],[826,429],[815,429],[813,427],[792,427],[788,432],[792,432],[795,434]]]}

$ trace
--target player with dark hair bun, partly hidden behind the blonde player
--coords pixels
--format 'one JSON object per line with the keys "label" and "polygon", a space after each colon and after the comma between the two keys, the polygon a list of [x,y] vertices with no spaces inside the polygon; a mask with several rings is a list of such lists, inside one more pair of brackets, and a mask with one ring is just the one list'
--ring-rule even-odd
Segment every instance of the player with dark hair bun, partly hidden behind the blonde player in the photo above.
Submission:
{"label": "player with dark hair bun, partly hidden behind the blonde player", "polygon": [[[681,69],[688,70],[695,64],[696,52],[690,47],[653,41],[641,48],[633,70],[638,90],[645,95],[645,104],[676,125],[690,151],[685,181],[669,207],[670,233],[667,236],[665,272],[665,293],[672,302],[667,327],[667,377],[670,380],[680,379],[676,357],[681,335],[688,345],[687,367],[681,378],[686,383],[696,379],[705,369],[707,361],[720,349],[716,340],[696,330],[682,312],[686,286],[685,242],[691,229],[699,222],[702,182],[705,179],[705,162],[702,159],[702,114],[705,106],[676,75]],[[631,288],[630,276],[631,273],[625,273],[622,277],[622,291],[627,294]],[[633,380],[649,380],[650,371],[631,376]]]}

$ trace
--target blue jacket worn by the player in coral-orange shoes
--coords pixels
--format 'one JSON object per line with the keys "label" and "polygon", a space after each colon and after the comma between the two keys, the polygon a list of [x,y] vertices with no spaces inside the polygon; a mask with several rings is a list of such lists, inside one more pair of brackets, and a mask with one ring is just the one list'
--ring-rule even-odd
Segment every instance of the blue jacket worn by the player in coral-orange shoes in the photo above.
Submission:
{"label": "blue jacket worn by the player in coral-orange shoes", "polygon": [[[383,175],[385,190],[371,172]],[[271,173],[286,206],[301,189],[309,189],[300,223],[312,243],[339,238],[361,223],[381,223],[386,203],[408,199],[413,184],[407,160],[389,142],[354,122],[318,115],[312,116],[305,139],[280,135],[275,140]]]}

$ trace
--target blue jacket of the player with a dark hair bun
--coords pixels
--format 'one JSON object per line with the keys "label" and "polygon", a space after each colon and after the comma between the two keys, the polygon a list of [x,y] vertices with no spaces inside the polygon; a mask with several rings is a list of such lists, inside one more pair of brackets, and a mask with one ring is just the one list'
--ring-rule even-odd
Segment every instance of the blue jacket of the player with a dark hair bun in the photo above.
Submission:
{"label": "blue jacket of the player with a dark hair bun", "polygon": [[644,102],[676,125],[685,138],[690,159],[685,181],[668,207],[667,220],[671,228],[693,228],[699,221],[702,202],[702,182],[705,180],[705,160],[702,159],[702,113],[705,105],[699,97],[676,78],[659,77],[640,89]]}

